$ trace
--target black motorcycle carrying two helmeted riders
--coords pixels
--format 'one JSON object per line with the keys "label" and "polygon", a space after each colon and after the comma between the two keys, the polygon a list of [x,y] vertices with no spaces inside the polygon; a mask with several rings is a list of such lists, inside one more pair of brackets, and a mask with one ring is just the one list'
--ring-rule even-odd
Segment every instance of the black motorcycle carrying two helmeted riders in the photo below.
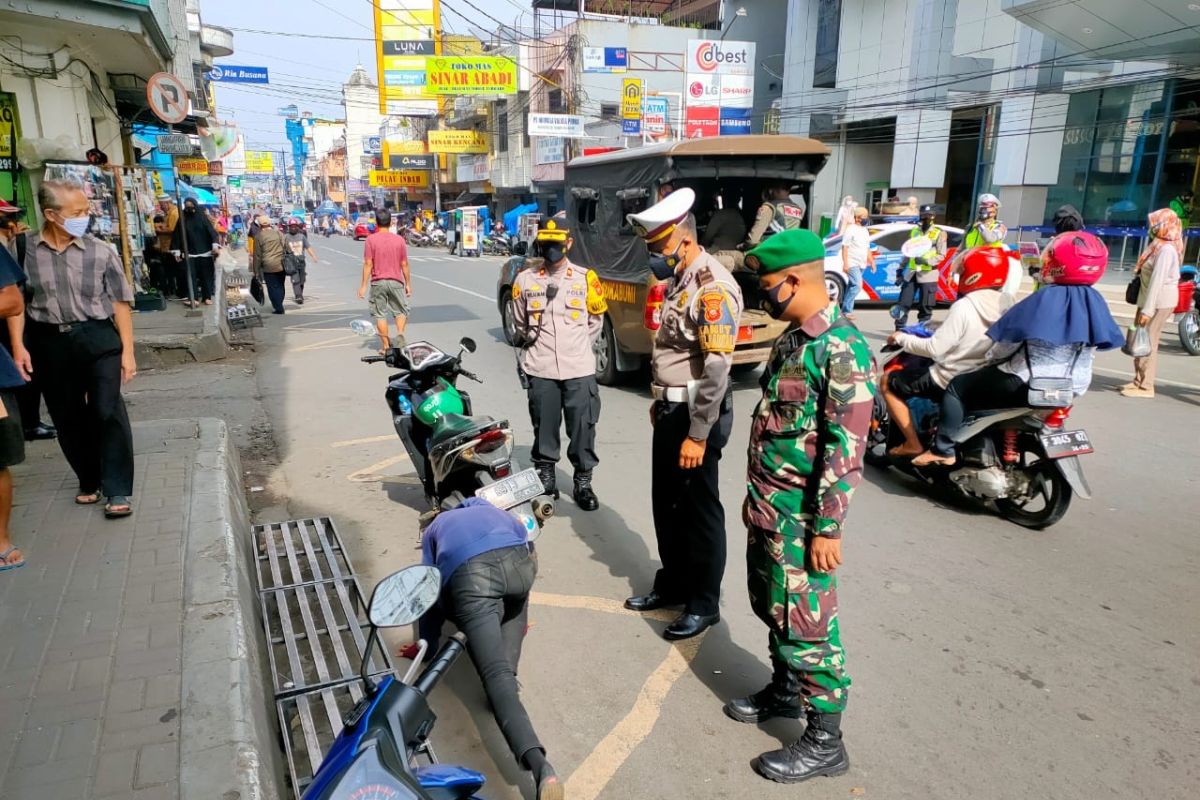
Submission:
{"label": "black motorcycle carrying two helmeted riders", "polygon": [[[932,335],[924,325],[908,326],[905,332]],[[930,363],[898,345],[884,345],[883,351],[895,353],[884,362],[884,373]],[[937,431],[938,407],[912,398],[908,408],[928,447]],[[949,485],[973,500],[992,503],[1000,516],[1018,525],[1049,528],[1067,513],[1073,494],[1092,497],[1079,463],[1079,456],[1093,452],[1092,444],[1086,432],[1063,428],[1069,414],[1070,405],[976,411],[955,438],[958,461],[953,467],[914,467],[911,458],[888,456],[904,435],[892,426],[881,392],[875,398],[865,458],[876,467],[895,467],[928,483]]]}

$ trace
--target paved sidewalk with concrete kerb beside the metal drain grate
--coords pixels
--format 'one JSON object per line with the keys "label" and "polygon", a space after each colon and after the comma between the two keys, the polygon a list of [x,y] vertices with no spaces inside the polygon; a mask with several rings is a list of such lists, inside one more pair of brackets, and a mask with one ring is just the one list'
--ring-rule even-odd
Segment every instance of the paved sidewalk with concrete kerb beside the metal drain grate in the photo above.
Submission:
{"label": "paved sidewalk with concrete kerb beside the metal drain grate", "polygon": [[276,798],[240,465],[220,420],[134,426],[133,517],[16,468],[0,573],[0,798]]}

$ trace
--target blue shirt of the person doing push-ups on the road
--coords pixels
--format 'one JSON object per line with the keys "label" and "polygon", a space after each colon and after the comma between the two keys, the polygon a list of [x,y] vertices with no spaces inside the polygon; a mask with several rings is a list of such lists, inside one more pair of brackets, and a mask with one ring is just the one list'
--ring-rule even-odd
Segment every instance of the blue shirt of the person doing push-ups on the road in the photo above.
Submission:
{"label": "blue shirt of the person doing push-ups on the road", "polygon": [[455,570],[476,555],[526,542],[524,525],[516,517],[487,500],[467,498],[425,529],[421,563],[442,571],[444,587]]}

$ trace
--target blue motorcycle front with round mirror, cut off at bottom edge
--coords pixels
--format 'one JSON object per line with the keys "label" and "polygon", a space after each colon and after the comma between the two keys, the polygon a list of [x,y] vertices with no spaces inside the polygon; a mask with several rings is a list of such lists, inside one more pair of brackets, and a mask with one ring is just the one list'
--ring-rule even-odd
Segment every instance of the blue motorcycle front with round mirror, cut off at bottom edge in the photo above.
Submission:
{"label": "blue motorcycle front with round mirror, cut off at bottom edge", "polygon": [[[380,627],[412,625],[433,607],[440,591],[442,573],[433,566],[410,566],[380,581],[367,607],[371,632],[364,652],[371,652]],[[464,766],[439,764],[430,742],[437,722],[430,693],[462,654],[464,644],[462,633],[451,637],[415,681],[413,678],[428,649],[424,640],[400,680],[386,675],[376,685],[367,675],[364,656],[361,675],[366,693],[346,715],[341,733],[301,800],[474,798],[484,786],[484,776]],[[424,765],[419,765],[421,762]]]}

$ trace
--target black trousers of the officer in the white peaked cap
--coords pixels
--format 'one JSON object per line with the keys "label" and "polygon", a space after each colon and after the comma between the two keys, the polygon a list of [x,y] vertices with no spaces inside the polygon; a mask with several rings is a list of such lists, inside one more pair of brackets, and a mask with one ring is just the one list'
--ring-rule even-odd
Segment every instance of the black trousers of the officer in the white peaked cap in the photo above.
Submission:
{"label": "black trousers of the officer in the white peaked cap", "polygon": [[679,468],[679,449],[691,426],[688,404],[658,403],[654,409],[650,498],[662,561],[654,590],[683,601],[691,614],[715,614],[721,599],[726,541],[718,464],[733,427],[728,402],[726,409],[709,432],[704,461],[696,469]]}

